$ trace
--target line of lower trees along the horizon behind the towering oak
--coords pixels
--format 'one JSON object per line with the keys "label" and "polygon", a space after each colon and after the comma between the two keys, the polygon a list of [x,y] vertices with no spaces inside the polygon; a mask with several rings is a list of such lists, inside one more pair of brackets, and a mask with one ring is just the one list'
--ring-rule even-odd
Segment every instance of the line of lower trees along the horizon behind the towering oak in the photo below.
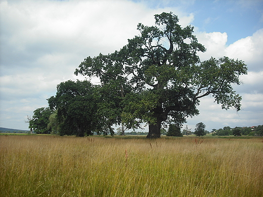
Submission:
{"label": "line of lower trees along the horizon behind the towering oak", "polygon": [[[69,80],[62,82],[57,88],[58,92],[56,96],[48,99],[49,107],[38,108],[34,111],[32,118],[28,117],[28,121],[26,122],[29,123],[31,131],[37,134],[76,136],[115,134],[112,125],[117,122],[112,121],[112,119],[117,119],[116,117],[120,116],[120,114],[114,113],[113,109],[108,108],[109,106],[105,105],[103,100],[98,101],[98,95],[102,93],[98,87],[93,87],[89,81],[73,82]],[[112,119],[110,119],[109,115],[111,115]],[[203,128],[200,129],[199,126],[202,125]],[[191,131],[191,129],[183,129],[181,131],[181,128],[175,124],[170,124],[167,130],[164,128],[161,129],[161,134],[167,136],[192,134],[200,136],[207,133],[217,136],[263,136],[263,125],[235,128],[226,126],[223,129],[212,129],[211,132],[205,130],[203,123],[201,125],[198,123],[195,131]],[[121,132],[120,129],[116,134],[146,135],[148,132]]]}

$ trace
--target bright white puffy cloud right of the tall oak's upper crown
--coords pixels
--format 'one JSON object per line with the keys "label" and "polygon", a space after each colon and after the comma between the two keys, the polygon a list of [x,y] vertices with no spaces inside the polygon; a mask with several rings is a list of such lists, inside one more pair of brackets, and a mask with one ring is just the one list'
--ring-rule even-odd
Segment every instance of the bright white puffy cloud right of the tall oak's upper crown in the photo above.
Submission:
{"label": "bright white puffy cloud right of the tall oak's upper crown", "polygon": [[227,43],[227,33],[221,32],[197,32],[197,38],[207,51],[199,53],[201,61],[211,56],[220,58],[223,56],[239,59],[248,66],[248,71],[263,70],[263,29],[257,30],[252,36],[242,38],[230,44]]}

